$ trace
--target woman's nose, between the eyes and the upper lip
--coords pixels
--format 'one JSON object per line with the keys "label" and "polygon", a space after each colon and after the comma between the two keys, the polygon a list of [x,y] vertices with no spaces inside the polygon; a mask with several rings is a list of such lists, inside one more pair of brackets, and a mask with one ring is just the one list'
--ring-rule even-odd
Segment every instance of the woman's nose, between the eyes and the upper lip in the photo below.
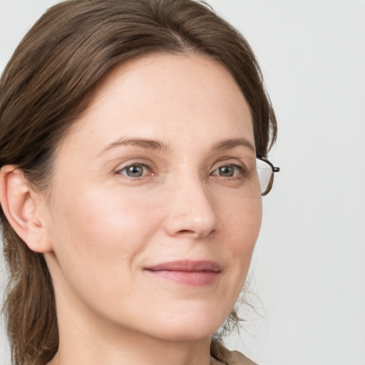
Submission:
{"label": "woman's nose, between the eyes and the upper lip", "polygon": [[213,196],[199,178],[177,178],[170,191],[165,220],[168,235],[203,238],[220,228]]}

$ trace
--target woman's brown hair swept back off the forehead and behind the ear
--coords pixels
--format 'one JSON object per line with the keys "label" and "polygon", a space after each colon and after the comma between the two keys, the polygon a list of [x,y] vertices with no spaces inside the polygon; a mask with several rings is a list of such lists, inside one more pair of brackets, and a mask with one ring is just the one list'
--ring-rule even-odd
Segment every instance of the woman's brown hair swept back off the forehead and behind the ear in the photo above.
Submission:
{"label": "woman's brown hair swept back off the forehead and behind the ear", "polygon": [[[0,166],[17,165],[33,187],[46,188],[59,141],[113,66],[146,53],[186,51],[204,53],[230,71],[252,111],[257,155],[266,156],[277,125],[256,58],[209,6],[192,0],[70,0],[48,9],[5,68]],[[0,214],[12,361],[43,365],[58,349],[51,277],[43,255],[29,250]]]}

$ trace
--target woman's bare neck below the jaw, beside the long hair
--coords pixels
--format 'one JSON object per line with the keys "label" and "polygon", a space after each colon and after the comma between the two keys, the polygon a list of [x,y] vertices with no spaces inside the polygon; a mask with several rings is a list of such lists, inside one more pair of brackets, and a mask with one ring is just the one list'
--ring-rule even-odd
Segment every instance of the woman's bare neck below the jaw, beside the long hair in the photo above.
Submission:
{"label": "woman's bare neck below the jaw, beside the long hair", "polygon": [[164,339],[100,319],[77,304],[57,307],[59,347],[48,365],[210,364],[210,338]]}

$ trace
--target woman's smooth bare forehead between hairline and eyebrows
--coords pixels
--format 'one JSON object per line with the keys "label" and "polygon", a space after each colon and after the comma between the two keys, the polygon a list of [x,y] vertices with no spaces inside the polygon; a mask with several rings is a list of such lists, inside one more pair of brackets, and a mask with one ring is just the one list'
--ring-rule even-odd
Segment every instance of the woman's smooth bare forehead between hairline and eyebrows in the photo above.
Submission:
{"label": "woman's smooth bare forehead between hairline and eyebrows", "polygon": [[220,63],[195,53],[154,53],[113,68],[69,137],[83,143],[85,134],[101,144],[130,135],[166,143],[177,135],[190,143],[223,137],[253,143],[250,107],[239,86]]}

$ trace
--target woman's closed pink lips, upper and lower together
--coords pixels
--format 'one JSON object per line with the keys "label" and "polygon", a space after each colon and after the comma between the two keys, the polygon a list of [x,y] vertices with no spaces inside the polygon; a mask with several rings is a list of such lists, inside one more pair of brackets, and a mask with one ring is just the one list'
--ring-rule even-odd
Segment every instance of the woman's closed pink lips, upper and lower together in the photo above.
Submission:
{"label": "woman's closed pink lips, upper and lower together", "polygon": [[155,277],[170,280],[189,287],[204,287],[220,277],[221,267],[210,260],[179,260],[145,267]]}

